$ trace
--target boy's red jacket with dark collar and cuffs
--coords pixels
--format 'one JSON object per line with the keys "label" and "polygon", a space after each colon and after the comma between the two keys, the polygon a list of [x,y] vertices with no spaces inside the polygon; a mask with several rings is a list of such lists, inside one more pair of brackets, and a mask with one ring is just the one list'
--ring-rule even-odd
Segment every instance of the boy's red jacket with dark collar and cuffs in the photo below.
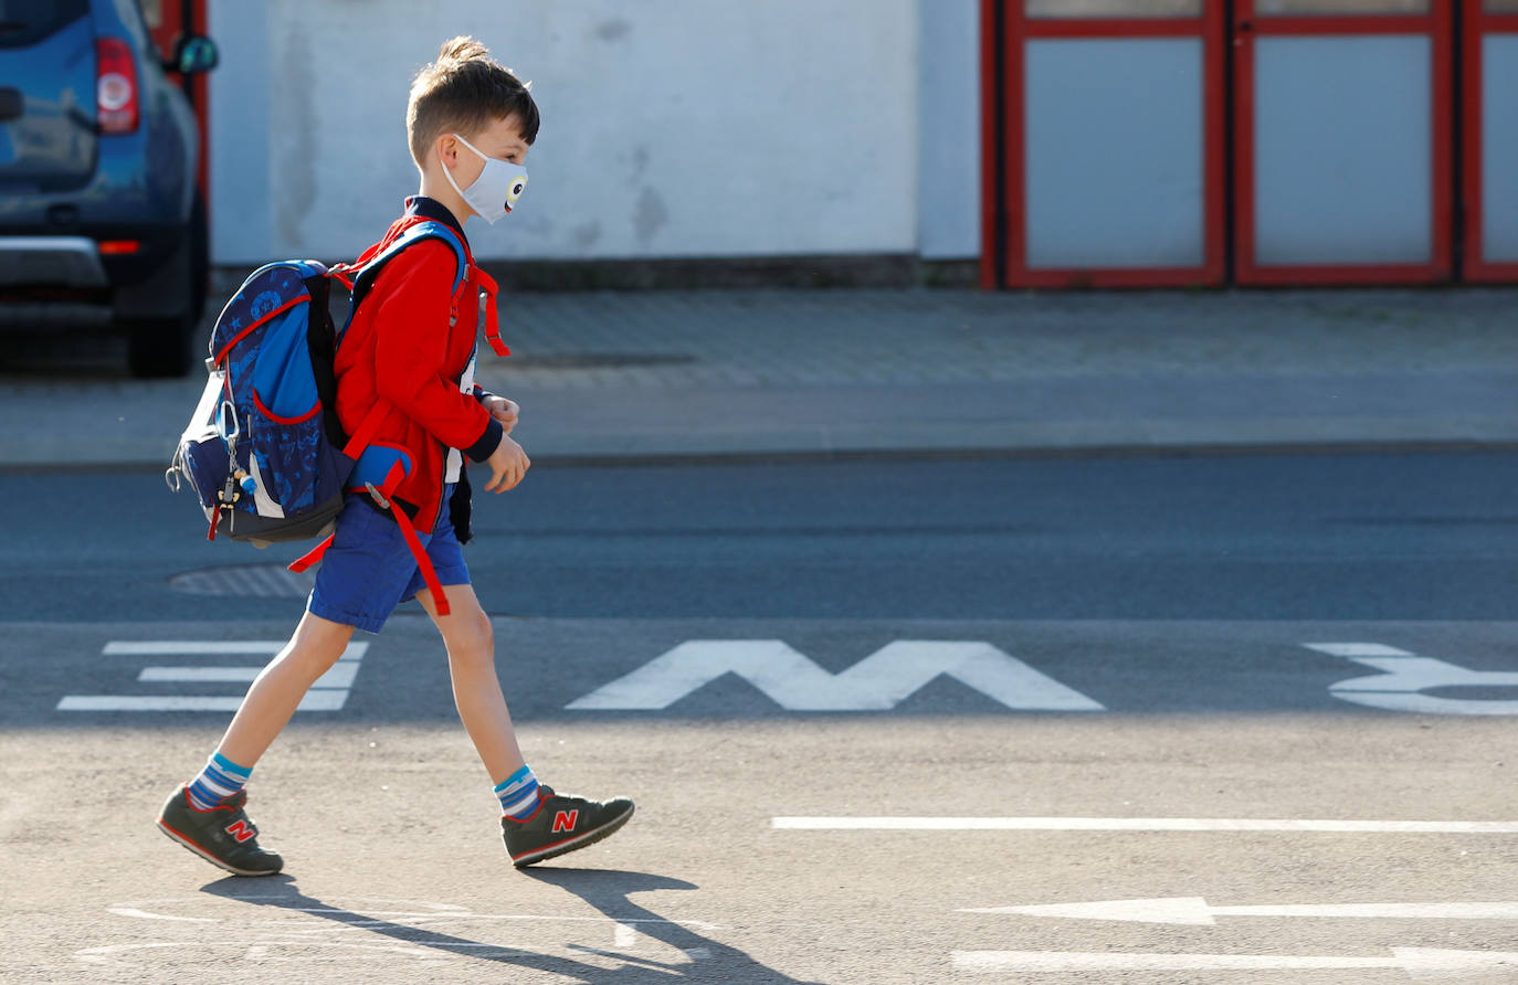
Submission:
{"label": "boy's red jacket with dark collar and cuffs", "polygon": [[[360,304],[334,363],[337,416],[345,431],[352,434],[375,402],[390,402],[370,448],[386,446],[410,457],[411,469],[393,498],[413,518],[417,533],[431,533],[445,505],[448,449],[484,461],[501,443],[501,423],[483,405],[489,395],[472,378],[480,282],[457,220],[433,199],[407,199],[405,214],[390,225],[378,249],[427,219],[446,222],[460,234],[469,260],[465,282],[457,293],[452,290],[458,260],[446,243],[422,240],[405,247]],[[457,320],[449,325],[454,313]],[[466,489],[461,483],[460,490]]]}

